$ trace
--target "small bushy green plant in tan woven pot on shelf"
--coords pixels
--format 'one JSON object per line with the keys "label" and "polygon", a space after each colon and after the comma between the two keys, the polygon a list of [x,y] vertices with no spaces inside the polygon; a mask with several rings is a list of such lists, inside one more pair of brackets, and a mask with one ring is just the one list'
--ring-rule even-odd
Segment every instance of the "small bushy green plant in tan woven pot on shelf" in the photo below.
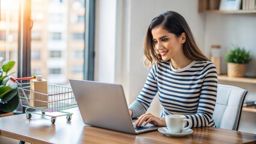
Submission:
{"label": "small bushy green plant in tan woven pot on shelf", "polygon": [[234,46],[226,54],[228,63],[228,77],[244,77],[248,63],[251,61],[249,52],[245,48]]}

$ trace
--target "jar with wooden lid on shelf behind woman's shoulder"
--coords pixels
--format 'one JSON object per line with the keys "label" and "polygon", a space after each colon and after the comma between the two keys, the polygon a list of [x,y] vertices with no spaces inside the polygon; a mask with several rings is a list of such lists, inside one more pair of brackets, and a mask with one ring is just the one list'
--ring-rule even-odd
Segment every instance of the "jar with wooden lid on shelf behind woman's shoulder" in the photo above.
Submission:
{"label": "jar with wooden lid on shelf behind woman's shoulder", "polygon": [[221,74],[221,46],[211,46],[211,61],[216,66],[217,74]]}

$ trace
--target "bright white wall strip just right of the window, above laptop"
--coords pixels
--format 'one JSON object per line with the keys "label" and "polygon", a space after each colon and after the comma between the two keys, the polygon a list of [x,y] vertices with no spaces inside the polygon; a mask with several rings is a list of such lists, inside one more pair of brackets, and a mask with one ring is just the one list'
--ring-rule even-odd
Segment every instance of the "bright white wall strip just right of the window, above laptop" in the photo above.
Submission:
{"label": "bright white wall strip just right of the window, above laptop", "polygon": [[95,77],[101,82],[114,83],[117,2],[99,0],[96,5]]}

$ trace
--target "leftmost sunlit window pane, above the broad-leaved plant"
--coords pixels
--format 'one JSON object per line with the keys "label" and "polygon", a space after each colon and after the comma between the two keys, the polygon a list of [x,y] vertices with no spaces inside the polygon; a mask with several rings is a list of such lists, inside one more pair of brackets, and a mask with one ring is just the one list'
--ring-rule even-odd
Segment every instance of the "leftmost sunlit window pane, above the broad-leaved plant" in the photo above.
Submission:
{"label": "leftmost sunlit window pane, above the broad-leaved plant", "polygon": [[10,71],[17,77],[18,31],[19,31],[19,2],[16,0],[0,1],[0,56],[6,61],[14,61],[16,65]]}

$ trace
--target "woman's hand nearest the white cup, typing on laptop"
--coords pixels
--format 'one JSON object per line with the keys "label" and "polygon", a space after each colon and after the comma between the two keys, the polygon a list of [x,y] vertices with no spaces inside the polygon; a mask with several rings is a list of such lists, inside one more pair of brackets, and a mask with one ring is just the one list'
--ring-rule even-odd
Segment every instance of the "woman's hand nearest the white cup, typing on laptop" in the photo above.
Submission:
{"label": "woman's hand nearest the white cup, typing on laptop", "polygon": [[[144,123],[145,122],[145,123]],[[165,127],[165,119],[164,118],[158,118],[151,113],[146,113],[144,115],[139,116],[138,120],[135,122],[136,126],[147,125],[148,123],[159,126],[159,127]]]}

